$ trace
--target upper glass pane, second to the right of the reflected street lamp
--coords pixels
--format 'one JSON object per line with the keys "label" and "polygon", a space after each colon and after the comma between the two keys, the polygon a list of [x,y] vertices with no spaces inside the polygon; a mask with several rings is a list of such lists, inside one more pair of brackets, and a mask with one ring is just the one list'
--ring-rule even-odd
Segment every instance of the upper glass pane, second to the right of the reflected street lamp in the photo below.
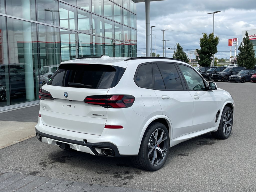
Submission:
{"label": "upper glass pane, second to the right of the reflected street lamp", "polygon": [[92,14],[78,9],[78,30],[84,33],[92,33]]}

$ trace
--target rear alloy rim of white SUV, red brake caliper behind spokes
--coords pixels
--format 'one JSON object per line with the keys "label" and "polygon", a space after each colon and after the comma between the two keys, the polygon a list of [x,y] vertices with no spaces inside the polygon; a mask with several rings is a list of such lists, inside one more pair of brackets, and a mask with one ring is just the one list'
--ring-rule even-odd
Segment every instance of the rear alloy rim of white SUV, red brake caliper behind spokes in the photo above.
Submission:
{"label": "rear alloy rim of white SUV, red brake caliper behind spokes", "polygon": [[152,165],[157,166],[164,161],[167,153],[167,136],[164,130],[156,129],[148,142],[148,158]]}

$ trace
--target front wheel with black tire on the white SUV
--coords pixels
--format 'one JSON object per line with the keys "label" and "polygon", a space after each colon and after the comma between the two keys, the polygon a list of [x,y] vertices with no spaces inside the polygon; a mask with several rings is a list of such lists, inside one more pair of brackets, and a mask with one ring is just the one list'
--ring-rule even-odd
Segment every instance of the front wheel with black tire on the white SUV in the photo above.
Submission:
{"label": "front wheel with black tire on the white SUV", "polygon": [[216,132],[211,132],[212,136],[218,139],[227,139],[232,131],[233,113],[232,110],[225,106],[220,119],[220,124]]}

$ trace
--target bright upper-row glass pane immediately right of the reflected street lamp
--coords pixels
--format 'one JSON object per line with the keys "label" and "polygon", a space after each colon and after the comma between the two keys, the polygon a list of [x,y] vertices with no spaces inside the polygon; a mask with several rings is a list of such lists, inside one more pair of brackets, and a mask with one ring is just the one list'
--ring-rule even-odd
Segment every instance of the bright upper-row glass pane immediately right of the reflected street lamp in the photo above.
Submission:
{"label": "bright upper-row glass pane immediately right of the reflected street lamp", "polygon": [[77,8],[64,3],[60,3],[59,7],[60,26],[69,29],[77,29]]}

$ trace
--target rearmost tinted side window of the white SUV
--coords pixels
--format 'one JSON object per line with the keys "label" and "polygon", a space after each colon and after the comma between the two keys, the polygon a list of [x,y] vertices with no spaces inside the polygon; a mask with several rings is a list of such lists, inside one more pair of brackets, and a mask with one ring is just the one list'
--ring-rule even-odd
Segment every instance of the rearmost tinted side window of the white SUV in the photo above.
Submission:
{"label": "rearmost tinted side window of the white SUV", "polygon": [[152,89],[151,64],[141,65],[136,75],[136,84],[139,87]]}

